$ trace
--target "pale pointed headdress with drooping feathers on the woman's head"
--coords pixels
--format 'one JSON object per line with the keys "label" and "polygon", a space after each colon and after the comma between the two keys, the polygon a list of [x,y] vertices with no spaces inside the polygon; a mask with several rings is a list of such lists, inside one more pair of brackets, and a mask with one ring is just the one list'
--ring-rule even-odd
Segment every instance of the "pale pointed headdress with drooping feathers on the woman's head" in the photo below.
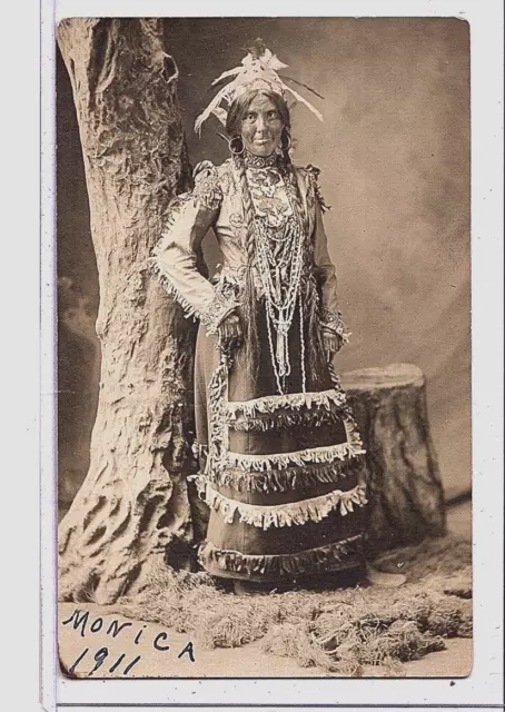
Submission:
{"label": "pale pointed headdress with drooping feathers on the woman's head", "polygon": [[[294,99],[296,99],[296,101],[304,103],[313,113],[317,116],[320,121],[323,121],[320,111],[318,111],[309,101],[307,101],[305,97],[298,93],[298,91],[295,91],[295,89],[286,85],[277,73],[280,69],[286,69],[288,65],[281,62],[276,55],[273,55],[270,50],[265,47],[263,40],[257,39],[254,42],[253,47],[249,49],[246,57],[242,59],[240,67],[228,69],[227,71],[222,72],[220,77],[212,81],[211,86],[215,87],[225,79],[232,78],[231,81],[226,83],[217,92],[208,107],[204,109],[204,111],[197,118],[197,120],[195,121],[195,131],[200,135],[201,125],[209,118],[211,113],[214,113],[214,116],[216,116],[219,121],[225,125],[227,110],[221,105],[225,103],[229,107],[237,97],[251,89],[266,89],[268,91],[275,91],[281,97],[286,97],[286,95],[289,93]],[[299,83],[294,79],[290,79],[289,77],[286,77],[286,79],[289,79],[295,83]],[[320,95],[314,91],[314,89],[310,89],[310,87],[305,88],[316,96],[320,97]]]}

